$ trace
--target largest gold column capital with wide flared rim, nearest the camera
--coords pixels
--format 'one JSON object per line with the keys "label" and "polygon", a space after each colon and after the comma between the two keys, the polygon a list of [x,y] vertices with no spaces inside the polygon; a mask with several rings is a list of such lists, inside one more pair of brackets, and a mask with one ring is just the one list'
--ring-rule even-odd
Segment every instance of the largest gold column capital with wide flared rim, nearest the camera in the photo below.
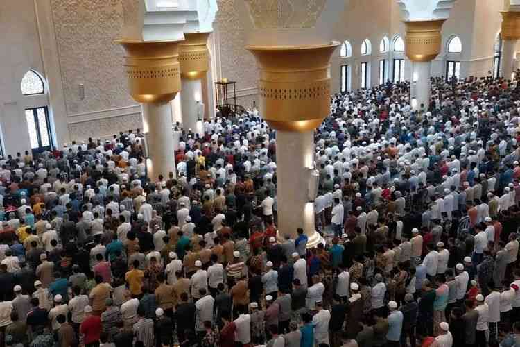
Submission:
{"label": "largest gold column capital with wide flared rim, nearest the camera", "polygon": [[330,113],[330,59],[339,42],[320,46],[246,46],[260,69],[260,109],[277,130],[306,132]]}

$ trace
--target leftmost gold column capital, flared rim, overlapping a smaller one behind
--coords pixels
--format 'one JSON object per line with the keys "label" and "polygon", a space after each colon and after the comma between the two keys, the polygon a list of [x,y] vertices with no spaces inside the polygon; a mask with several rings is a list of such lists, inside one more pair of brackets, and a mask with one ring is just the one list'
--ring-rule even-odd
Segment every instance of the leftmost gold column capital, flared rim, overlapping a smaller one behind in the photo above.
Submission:
{"label": "leftmost gold column capital, flared rim, overlapping a smaller one behind", "polygon": [[116,40],[125,49],[130,95],[139,103],[175,99],[180,92],[180,41]]}

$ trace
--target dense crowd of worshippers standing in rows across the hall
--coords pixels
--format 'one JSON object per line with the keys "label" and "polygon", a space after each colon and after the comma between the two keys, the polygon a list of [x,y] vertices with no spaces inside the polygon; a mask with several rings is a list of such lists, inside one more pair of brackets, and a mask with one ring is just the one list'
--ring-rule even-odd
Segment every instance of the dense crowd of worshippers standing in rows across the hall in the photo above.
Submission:
{"label": "dense crowd of worshippers standing in rows across the hall", "polygon": [[520,346],[517,82],[409,94],[331,96],[315,246],[277,230],[255,108],[182,132],[176,174],[139,130],[2,159],[0,346]]}

